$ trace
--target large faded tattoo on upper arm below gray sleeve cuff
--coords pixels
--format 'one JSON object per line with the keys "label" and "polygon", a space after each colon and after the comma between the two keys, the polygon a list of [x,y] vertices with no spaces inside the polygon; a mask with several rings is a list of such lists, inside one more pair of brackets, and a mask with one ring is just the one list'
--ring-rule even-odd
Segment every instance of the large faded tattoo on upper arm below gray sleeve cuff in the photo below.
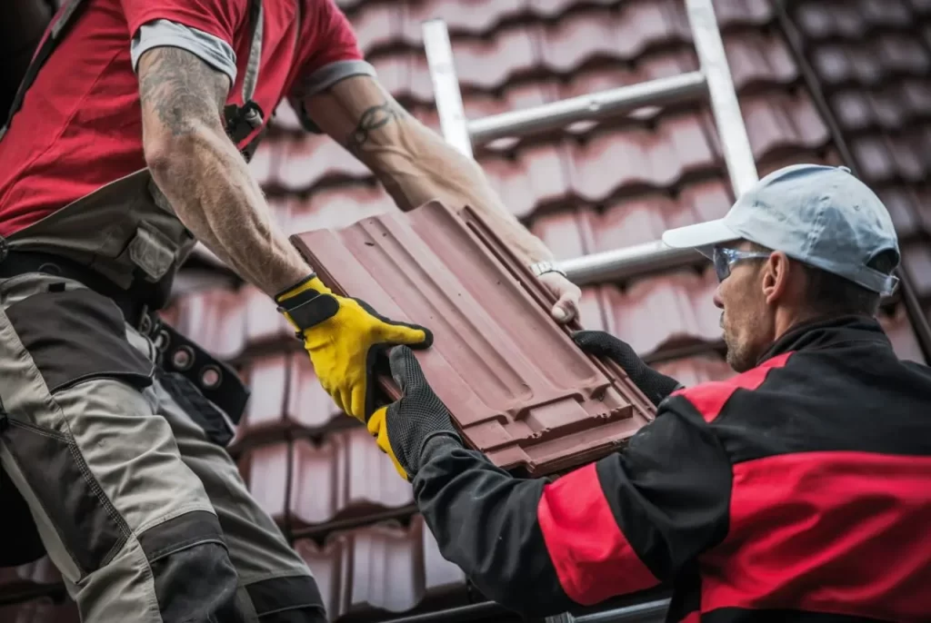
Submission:
{"label": "large faded tattoo on upper arm below gray sleeve cuff", "polygon": [[178,47],[159,47],[146,57],[140,66],[142,106],[157,114],[172,136],[221,121],[229,90],[223,73]]}

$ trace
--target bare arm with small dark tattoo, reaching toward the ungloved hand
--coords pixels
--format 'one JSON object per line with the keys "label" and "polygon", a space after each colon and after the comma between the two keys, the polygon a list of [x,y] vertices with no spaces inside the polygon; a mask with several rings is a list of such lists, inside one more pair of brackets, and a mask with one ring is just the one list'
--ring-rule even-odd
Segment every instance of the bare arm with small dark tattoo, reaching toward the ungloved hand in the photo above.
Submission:
{"label": "bare arm with small dark tattoo, reaching toward the ungloved hand", "polygon": [[304,108],[371,169],[402,210],[433,199],[470,205],[527,263],[553,258],[502,203],[475,161],[405,112],[375,79],[346,78],[304,99]]}

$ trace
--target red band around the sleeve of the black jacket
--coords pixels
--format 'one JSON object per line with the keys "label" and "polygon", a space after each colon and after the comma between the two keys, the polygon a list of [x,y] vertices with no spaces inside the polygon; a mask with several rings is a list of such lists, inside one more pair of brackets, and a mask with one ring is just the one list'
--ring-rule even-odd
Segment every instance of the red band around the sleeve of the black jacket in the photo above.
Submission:
{"label": "red band around the sleeve of the black jacket", "polygon": [[594,463],[546,484],[537,520],[574,602],[591,605],[659,584],[614,520]]}

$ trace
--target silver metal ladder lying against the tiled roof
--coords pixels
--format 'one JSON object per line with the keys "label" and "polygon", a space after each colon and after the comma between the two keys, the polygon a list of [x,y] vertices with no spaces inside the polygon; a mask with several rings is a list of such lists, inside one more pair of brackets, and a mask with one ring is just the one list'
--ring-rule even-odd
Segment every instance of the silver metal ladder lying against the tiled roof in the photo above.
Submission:
{"label": "silver metal ladder lying against the tiled roof", "polygon": [[[533,108],[466,119],[462,93],[452,60],[452,44],[443,20],[423,24],[426,59],[437,100],[443,137],[466,156],[474,145],[504,137],[518,138],[577,121],[602,119],[645,106],[707,97],[714,115],[724,163],[735,197],[757,179],[747,128],[737,103],[731,71],[711,0],[684,0],[700,69],[640,84],[562,99]],[[622,279],[645,271],[679,266],[695,258],[691,249],[673,249],[662,241],[627,246],[559,262],[576,284]]]}

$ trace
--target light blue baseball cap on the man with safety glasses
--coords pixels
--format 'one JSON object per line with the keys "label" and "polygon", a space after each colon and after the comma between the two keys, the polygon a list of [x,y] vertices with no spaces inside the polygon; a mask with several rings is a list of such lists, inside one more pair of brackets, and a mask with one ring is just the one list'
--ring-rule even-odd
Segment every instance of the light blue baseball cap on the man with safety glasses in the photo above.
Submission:
{"label": "light blue baseball cap on the man with safety glasses", "polygon": [[792,165],[760,179],[723,219],[668,230],[663,242],[711,258],[715,245],[749,240],[888,296],[894,275],[867,264],[901,255],[896,228],[879,197],[846,166]]}

